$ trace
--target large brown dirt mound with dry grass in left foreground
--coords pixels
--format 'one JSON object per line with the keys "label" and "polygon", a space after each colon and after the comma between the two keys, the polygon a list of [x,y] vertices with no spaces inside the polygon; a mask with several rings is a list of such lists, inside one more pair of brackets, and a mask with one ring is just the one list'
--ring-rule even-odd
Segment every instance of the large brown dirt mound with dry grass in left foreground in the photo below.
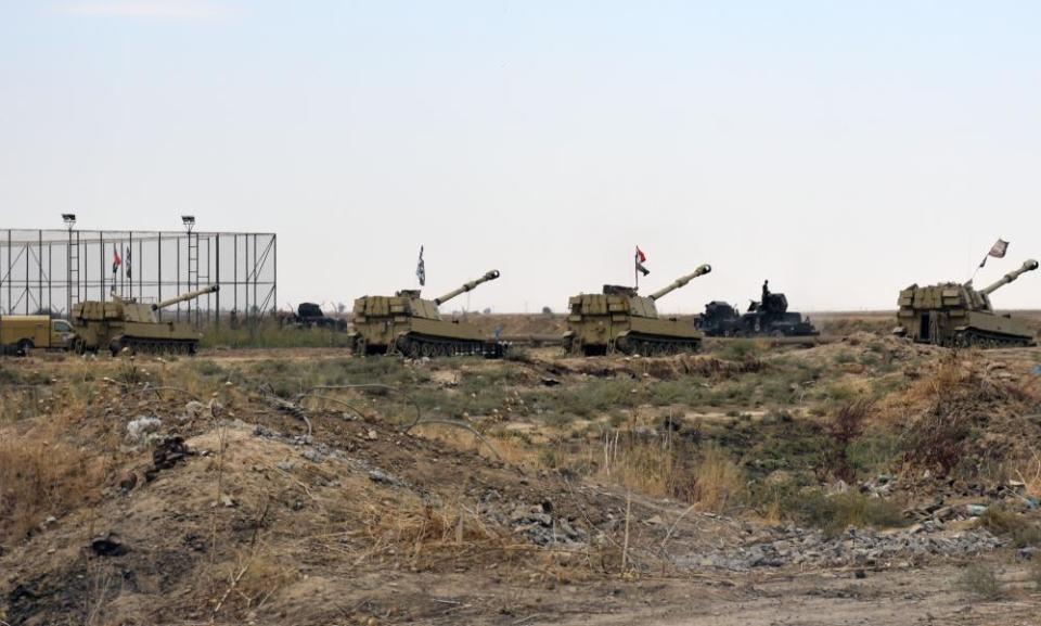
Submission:
{"label": "large brown dirt mound with dry grass in left foreground", "polygon": [[[64,437],[110,442],[110,471],[98,493],[56,510],[28,540],[8,541],[0,619],[408,623],[445,606],[358,582],[488,568],[509,579],[582,580],[658,562],[667,533],[705,549],[741,528],[680,520],[678,504],[627,503],[615,490],[378,419],[309,410],[305,424],[260,397],[233,404],[250,423],[217,401],[116,385],[95,414],[70,418]],[[144,410],[160,425],[140,445],[138,426],[128,426]],[[670,529],[666,520],[682,523]]]}

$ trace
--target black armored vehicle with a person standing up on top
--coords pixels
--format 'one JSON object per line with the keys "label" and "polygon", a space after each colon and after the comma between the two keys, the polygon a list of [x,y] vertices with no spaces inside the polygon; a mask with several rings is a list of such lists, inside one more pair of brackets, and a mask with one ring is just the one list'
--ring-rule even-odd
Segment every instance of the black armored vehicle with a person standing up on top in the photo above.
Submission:
{"label": "black armored vehicle with a person standing up on top", "polygon": [[737,307],[724,302],[705,305],[697,328],[710,337],[720,336],[812,336],[820,334],[809,319],[788,312],[788,298],[783,293],[770,293],[763,285],[762,299],[748,305],[743,315]]}

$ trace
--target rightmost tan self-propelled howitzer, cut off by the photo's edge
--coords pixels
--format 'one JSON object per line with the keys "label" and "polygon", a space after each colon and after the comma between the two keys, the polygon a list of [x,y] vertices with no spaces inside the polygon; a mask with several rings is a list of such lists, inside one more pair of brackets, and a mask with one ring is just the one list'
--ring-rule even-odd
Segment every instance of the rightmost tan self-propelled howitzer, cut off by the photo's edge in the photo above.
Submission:
{"label": "rightmost tan self-propelled howitzer, cut off by the photo's edge", "polygon": [[913,284],[900,292],[896,333],[917,343],[949,347],[1036,345],[1033,332],[1024,321],[998,315],[990,305],[990,294],[1036,269],[1038,261],[1028,260],[981,290],[974,289],[972,281]]}

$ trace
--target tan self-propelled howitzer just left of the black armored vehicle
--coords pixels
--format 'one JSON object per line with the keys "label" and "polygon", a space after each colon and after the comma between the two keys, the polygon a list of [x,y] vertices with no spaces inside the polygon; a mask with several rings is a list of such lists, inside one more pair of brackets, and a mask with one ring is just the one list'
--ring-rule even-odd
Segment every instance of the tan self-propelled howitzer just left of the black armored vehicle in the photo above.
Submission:
{"label": "tan self-propelled howitzer just left of the black armored vehicle", "polygon": [[607,355],[616,350],[642,356],[696,352],[704,336],[693,323],[659,318],[655,303],[699,276],[707,265],[648,296],[630,286],[604,285],[602,294],[579,294],[568,301],[564,349],[574,355]]}

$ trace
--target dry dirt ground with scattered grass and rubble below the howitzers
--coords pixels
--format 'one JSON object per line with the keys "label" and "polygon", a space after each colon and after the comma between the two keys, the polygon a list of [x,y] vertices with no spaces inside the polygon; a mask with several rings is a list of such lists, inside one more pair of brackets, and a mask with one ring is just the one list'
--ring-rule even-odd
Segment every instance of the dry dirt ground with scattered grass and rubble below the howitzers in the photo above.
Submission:
{"label": "dry dirt ground with scattered grass and rubble below the howitzers", "polygon": [[[870,333],[712,350],[7,359],[0,624],[1041,623],[1023,531],[1041,350],[952,358]],[[815,446],[857,394],[877,413],[864,449],[918,416],[977,420],[959,469],[854,446],[849,493],[908,519],[827,531],[769,511],[754,486],[847,488]],[[977,502],[1019,535],[980,527]]]}

